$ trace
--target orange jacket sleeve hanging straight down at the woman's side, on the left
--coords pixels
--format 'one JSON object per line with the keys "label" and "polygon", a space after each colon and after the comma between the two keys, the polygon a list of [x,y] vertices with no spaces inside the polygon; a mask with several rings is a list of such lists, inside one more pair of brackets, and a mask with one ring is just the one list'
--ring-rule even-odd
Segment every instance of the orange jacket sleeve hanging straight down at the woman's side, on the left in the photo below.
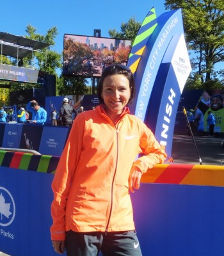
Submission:
{"label": "orange jacket sleeve hanging straight down at the woman's side, on the left", "polygon": [[68,136],[67,143],[61,154],[54,180],[52,181],[52,191],[54,200],[51,204],[51,216],[53,224],[51,226],[52,240],[65,240],[65,211],[69,194],[70,184],[76,172],[76,166],[83,147],[84,120],[80,115],[76,118]]}

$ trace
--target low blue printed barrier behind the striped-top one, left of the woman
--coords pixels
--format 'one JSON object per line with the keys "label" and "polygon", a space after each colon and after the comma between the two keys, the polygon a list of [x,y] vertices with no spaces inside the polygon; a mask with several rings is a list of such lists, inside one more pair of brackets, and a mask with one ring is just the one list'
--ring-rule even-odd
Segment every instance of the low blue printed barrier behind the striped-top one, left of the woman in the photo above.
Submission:
{"label": "low blue printed barrier behind the striped-top one, left of the woman", "polygon": [[61,156],[70,127],[0,123],[0,147],[36,150],[40,154]]}

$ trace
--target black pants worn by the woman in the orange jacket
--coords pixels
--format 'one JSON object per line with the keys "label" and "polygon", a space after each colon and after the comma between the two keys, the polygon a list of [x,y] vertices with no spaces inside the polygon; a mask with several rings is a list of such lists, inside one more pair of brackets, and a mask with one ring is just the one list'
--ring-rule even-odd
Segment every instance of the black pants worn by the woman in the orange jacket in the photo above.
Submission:
{"label": "black pants worn by the woman in the orange jacket", "polygon": [[67,256],[141,256],[135,230],[126,232],[73,232],[65,238]]}

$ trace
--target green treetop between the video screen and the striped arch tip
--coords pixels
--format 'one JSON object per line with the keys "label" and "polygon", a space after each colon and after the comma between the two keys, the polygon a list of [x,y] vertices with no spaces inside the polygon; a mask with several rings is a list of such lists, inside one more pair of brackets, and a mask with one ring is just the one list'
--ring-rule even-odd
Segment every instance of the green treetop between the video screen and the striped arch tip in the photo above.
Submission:
{"label": "green treetop between the video screen and the striped arch tip", "polygon": [[141,27],[141,23],[136,21],[134,17],[129,19],[127,23],[122,22],[120,26],[120,31],[116,31],[116,29],[109,29],[108,33],[111,38],[120,38],[131,40],[131,44],[134,42],[134,38],[136,37],[139,29]]}

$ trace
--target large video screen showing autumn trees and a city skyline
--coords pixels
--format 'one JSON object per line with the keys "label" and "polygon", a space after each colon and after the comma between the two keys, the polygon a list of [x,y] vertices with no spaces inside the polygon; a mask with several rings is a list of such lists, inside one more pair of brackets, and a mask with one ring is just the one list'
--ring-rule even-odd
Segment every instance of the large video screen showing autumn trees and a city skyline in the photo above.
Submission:
{"label": "large video screen showing autumn trees and a city skyline", "polygon": [[113,63],[127,64],[131,40],[64,35],[63,76],[100,77]]}

